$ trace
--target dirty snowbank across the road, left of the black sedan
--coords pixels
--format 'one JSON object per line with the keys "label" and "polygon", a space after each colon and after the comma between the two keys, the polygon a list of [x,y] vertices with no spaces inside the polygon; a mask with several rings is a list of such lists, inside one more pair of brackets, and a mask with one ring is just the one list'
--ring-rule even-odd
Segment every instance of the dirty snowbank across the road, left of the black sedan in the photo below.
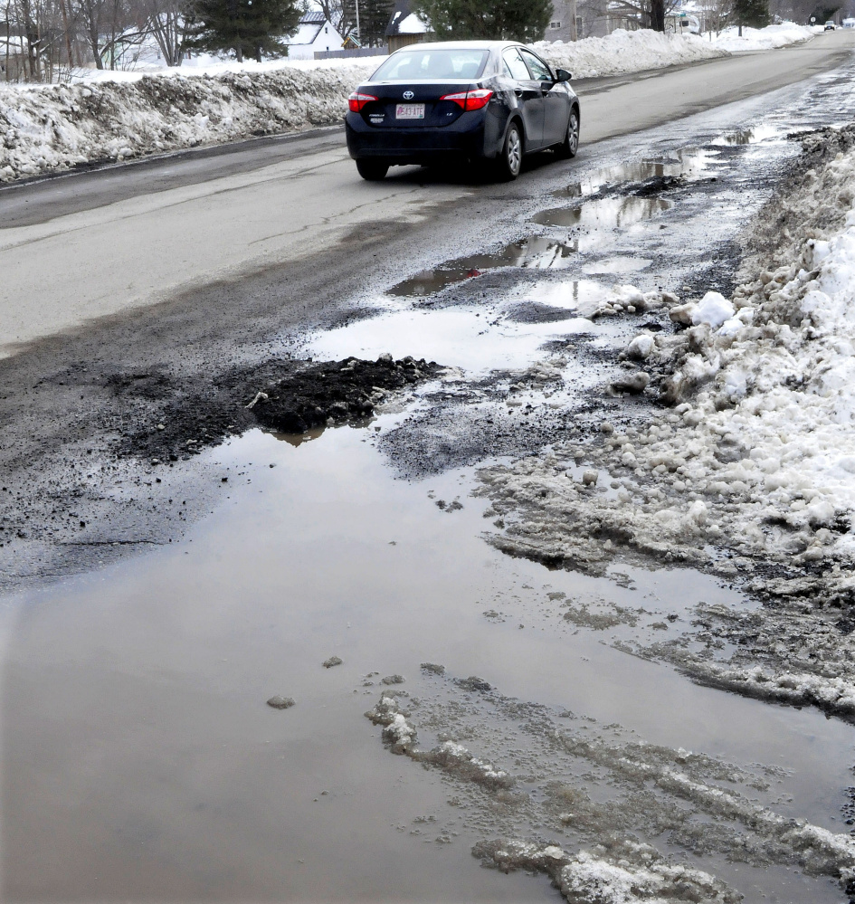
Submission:
{"label": "dirty snowbank across the road, left of the black sedan", "polygon": [[365,65],[0,88],[0,181],[340,122]]}

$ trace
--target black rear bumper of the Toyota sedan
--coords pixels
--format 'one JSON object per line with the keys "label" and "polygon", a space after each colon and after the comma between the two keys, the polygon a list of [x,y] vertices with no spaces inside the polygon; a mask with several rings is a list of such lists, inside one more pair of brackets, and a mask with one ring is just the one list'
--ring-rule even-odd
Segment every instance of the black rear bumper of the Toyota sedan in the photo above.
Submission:
{"label": "black rear bumper of the Toyota sedan", "polygon": [[430,163],[451,157],[496,157],[504,132],[491,113],[464,113],[442,128],[369,126],[358,113],[345,119],[347,150],[355,160],[375,157],[390,164]]}

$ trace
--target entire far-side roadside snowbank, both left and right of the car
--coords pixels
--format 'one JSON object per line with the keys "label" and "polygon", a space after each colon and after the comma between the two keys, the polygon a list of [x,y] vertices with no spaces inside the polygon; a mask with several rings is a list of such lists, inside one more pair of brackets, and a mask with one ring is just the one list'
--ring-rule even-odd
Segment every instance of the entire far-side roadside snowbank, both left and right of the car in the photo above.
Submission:
{"label": "entire far-side roadside snowbank, both left and right of the car", "polygon": [[[572,44],[542,42],[537,49],[575,78],[727,55],[719,43],[650,31],[617,31]],[[151,71],[146,64],[147,73],[92,71],[70,85],[3,85],[0,182],[332,125],[347,111],[348,94],[380,59],[241,64],[205,59],[177,70]]]}

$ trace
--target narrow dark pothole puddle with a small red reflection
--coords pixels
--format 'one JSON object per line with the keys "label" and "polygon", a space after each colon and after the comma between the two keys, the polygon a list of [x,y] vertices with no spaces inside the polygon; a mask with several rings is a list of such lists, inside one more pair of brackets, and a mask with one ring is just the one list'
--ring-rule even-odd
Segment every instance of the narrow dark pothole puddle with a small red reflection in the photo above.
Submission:
{"label": "narrow dark pothole puddle with a small red reflection", "polygon": [[505,245],[493,254],[473,254],[471,257],[450,261],[435,270],[416,273],[409,280],[399,282],[388,294],[396,296],[430,295],[455,282],[480,276],[485,270],[497,267],[526,267],[532,270],[563,270],[569,266],[568,258],[578,248],[573,242],[562,242],[545,235],[533,235]]}

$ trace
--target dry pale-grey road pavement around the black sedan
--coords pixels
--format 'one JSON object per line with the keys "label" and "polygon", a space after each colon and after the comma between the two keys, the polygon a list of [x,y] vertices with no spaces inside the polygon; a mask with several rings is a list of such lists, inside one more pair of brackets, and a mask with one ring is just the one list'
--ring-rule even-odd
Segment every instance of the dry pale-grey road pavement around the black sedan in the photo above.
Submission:
{"label": "dry pale-grey road pavement around the black sedan", "polygon": [[[580,82],[580,156],[604,138],[831,69],[853,46],[855,33],[840,31],[780,51]],[[393,174],[379,185],[359,180],[341,130],[331,128],[4,189],[0,354],[188,290],[322,259],[325,250],[358,270],[361,243],[426,224],[443,205],[520,190],[414,168]]]}

